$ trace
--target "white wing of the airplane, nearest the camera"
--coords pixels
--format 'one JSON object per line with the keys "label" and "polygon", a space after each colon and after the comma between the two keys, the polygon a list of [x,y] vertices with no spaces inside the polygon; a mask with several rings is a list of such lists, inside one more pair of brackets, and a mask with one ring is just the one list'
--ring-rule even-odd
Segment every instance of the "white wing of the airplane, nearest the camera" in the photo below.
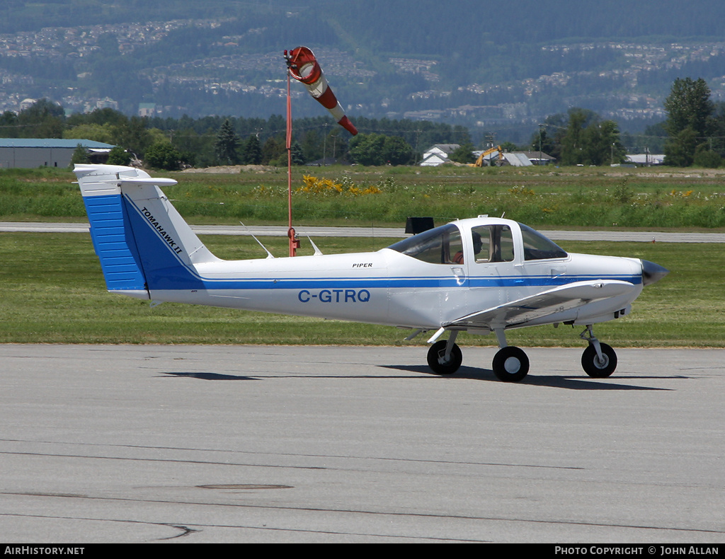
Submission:
{"label": "white wing of the airplane, nearest the camera", "polygon": [[446,326],[489,329],[523,326],[531,320],[582,307],[601,299],[618,297],[634,289],[635,286],[628,281],[577,281],[498,307],[473,312]]}

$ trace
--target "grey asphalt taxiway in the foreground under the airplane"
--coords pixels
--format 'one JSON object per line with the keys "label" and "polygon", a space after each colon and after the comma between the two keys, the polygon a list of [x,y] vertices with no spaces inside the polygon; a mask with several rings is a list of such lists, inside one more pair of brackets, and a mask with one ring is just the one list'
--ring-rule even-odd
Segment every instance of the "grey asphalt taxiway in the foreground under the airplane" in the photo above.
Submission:
{"label": "grey asphalt taxiway in the foreground under the airplane", "polygon": [[0,345],[7,542],[725,540],[725,352]]}

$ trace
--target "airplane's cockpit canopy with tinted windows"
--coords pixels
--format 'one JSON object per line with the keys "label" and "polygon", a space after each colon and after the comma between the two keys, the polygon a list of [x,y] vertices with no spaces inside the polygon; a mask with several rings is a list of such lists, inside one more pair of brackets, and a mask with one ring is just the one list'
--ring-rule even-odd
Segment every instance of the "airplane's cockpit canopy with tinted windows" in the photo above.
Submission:
{"label": "airplane's cockpit canopy with tinted windows", "polygon": [[[513,228],[521,232],[521,244]],[[431,264],[463,264],[467,251],[465,236],[471,239],[474,262],[513,262],[521,252],[521,260],[566,258],[566,252],[538,231],[523,223],[483,223],[459,227],[448,223],[408,237],[388,248]]]}

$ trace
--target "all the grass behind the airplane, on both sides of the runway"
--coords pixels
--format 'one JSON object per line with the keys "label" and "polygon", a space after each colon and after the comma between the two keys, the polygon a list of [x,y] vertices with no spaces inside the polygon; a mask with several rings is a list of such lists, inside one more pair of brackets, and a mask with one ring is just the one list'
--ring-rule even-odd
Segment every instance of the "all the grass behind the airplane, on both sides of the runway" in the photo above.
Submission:
{"label": "all the grass behind the airplane, on both sides of the runway", "polygon": [[[160,173],[153,173],[159,175]],[[166,194],[190,223],[284,224],[286,170],[163,173]],[[307,179],[314,176],[318,181]],[[535,227],[725,230],[725,170],[502,167],[309,167],[294,170],[296,225],[402,227],[481,213]],[[0,220],[86,220],[68,170],[0,170]],[[334,185],[334,187],[330,187]],[[310,186],[310,188],[303,188]],[[374,188],[373,188],[374,187]],[[297,191],[299,190],[299,191]],[[365,191],[368,191],[365,194]],[[224,258],[264,257],[248,237],[208,236]],[[278,256],[286,239],[265,244]],[[393,239],[315,239],[326,254],[379,249]],[[597,326],[615,347],[725,347],[725,251],[718,244],[562,243],[570,252],[642,257],[671,270],[634,312]],[[424,343],[405,331],[331,320],[141,302],[108,294],[87,234],[0,233],[0,342],[4,343]],[[303,240],[301,254],[312,249]],[[581,346],[579,330],[513,331],[511,344]],[[462,344],[495,344],[462,335]]]}

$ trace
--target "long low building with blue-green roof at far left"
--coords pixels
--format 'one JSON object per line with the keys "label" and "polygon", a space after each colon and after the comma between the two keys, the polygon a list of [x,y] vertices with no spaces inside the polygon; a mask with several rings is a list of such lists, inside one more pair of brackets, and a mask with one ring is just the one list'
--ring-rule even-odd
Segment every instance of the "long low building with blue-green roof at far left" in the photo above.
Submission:
{"label": "long low building with blue-green roof at far left", "polygon": [[57,138],[0,138],[0,168],[67,167],[78,144],[93,163],[105,163],[114,147],[100,141]]}

